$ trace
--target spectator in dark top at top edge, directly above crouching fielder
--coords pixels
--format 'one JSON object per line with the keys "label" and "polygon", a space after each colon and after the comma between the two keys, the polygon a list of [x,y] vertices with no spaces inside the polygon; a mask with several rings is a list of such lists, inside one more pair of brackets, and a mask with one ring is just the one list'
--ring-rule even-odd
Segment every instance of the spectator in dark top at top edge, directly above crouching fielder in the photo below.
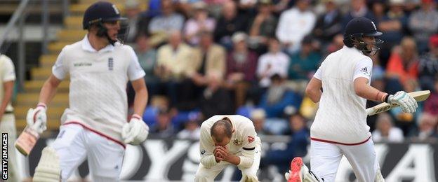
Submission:
{"label": "spectator in dark top at top edge, directly above crouching fielder", "polygon": [[243,15],[237,14],[237,7],[234,1],[225,1],[222,15],[215,28],[215,42],[225,46],[227,50],[232,48],[232,35],[237,31],[246,31],[247,20]]}

